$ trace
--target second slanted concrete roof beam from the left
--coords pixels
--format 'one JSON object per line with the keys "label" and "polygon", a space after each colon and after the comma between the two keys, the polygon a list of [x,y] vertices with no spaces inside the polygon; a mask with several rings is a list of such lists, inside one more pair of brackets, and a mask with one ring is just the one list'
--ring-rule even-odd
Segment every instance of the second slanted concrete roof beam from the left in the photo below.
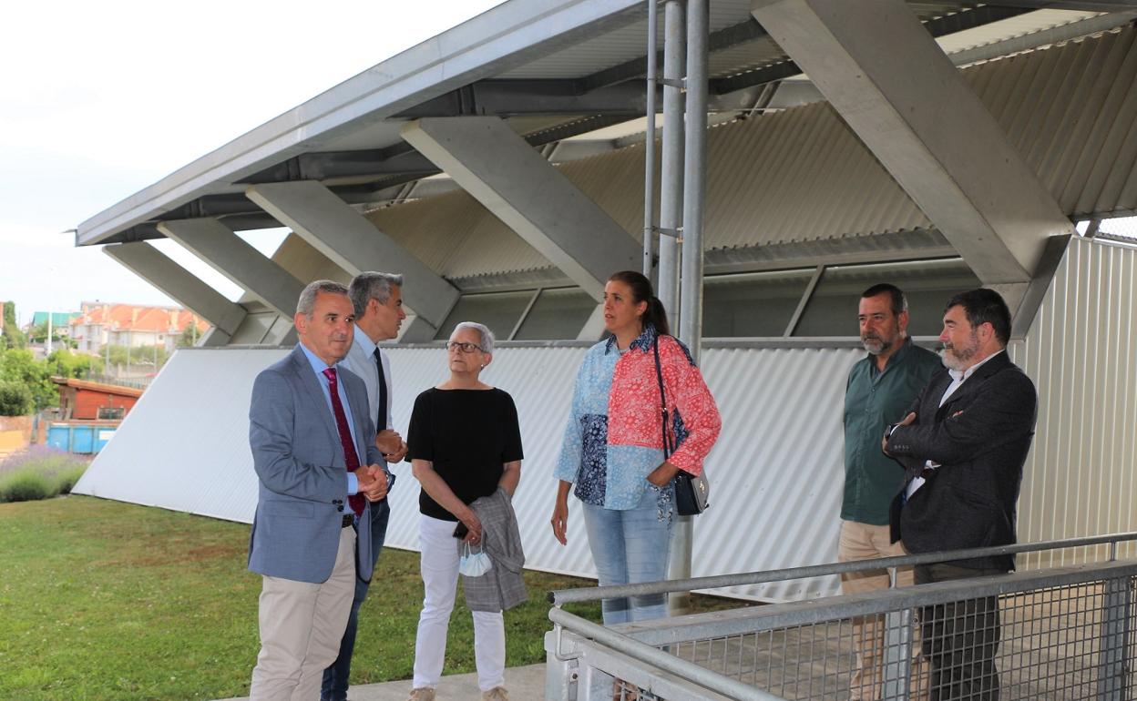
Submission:
{"label": "second slanted concrete roof beam from the left", "polygon": [[307,284],[266,258],[233,230],[217,219],[163,222],[158,231],[181,243],[215,270],[291,319],[296,303]]}

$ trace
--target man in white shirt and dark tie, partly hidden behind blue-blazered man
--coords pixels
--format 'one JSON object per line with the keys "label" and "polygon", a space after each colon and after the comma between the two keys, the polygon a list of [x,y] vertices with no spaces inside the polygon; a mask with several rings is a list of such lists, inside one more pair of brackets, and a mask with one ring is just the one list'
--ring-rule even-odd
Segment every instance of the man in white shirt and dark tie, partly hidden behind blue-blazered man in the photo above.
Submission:
{"label": "man in white shirt and dark tie, partly hidden behind blue-blazered man", "polygon": [[[390,273],[360,273],[348,285],[348,295],[355,310],[356,328],[347,358],[340,364],[363,378],[367,387],[368,416],[377,431],[375,444],[387,462],[398,462],[407,454],[407,444],[391,426],[391,364],[380,348],[382,341],[399,335],[399,326],[407,318],[402,311],[402,276]],[[389,485],[393,486],[395,475]],[[388,500],[371,504],[371,564],[374,568],[379,550],[387,539],[387,521],[391,516]],[[351,674],[351,653],[355,651],[359,607],[367,596],[370,582],[356,577],[351,614],[340,642],[339,657],[324,670],[319,687],[321,701],[346,701],[348,677]]]}

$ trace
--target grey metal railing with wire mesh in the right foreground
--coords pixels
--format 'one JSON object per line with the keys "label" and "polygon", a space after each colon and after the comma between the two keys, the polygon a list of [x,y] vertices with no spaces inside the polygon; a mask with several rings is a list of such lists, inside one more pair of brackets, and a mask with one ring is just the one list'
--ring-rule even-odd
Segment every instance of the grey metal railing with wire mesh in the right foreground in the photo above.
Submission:
{"label": "grey metal railing with wire mesh in the right foreground", "polygon": [[[551,592],[546,699],[1132,699],[1137,533]],[[574,601],[1107,546],[1070,567],[605,627]]]}

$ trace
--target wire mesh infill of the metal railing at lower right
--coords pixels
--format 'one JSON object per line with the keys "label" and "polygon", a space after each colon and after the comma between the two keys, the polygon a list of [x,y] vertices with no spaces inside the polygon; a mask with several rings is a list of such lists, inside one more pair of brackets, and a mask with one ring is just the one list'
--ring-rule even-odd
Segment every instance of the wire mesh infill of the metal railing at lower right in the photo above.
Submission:
{"label": "wire mesh infill of the metal railing at lower right", "polygon": [[[1126,601],[1107,583],[1046,587],[874,616],[684,641],[661,646],[783,699],[1098,699],[1115,686],[1106,660],[1132,660],[1137,644],[1107,621],[1137,627],[1134,583]],[[905,644],[905,641],[910,641]],[[1115,675],[1115,671],[1114,671]]]}

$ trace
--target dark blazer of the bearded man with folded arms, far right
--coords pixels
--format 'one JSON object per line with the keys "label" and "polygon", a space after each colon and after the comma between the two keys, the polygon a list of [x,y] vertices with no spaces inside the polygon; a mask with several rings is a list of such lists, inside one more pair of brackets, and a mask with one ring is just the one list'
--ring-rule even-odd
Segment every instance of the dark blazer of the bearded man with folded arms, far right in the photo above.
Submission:
{"label": "dark blazer of the bearded man with folded arms, far right", "polygon": [[[1038,410],[1035,384],[1006,352],[977,368],[940,407],[951,383],[946,369],[933,375],[908,407],[915,423],[888,437],[888,452],[908,479],[928,460],[940,465],[906,503],[903,492],[893,502],[893,541],[902,540],[912,553],[1015,542],[1022,466]],[[1011,570],[1014,557],[953,564]]]}

